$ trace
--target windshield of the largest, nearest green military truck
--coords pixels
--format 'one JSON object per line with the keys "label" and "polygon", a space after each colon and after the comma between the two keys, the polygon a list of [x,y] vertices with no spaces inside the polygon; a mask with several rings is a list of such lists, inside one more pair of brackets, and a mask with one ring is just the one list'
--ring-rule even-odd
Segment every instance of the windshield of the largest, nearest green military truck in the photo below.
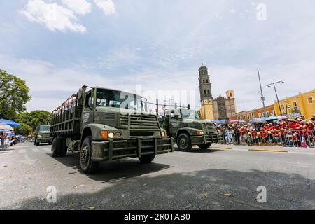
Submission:
{"label": "windshield of the largest, nearest green military truck", "polygon": [[116,90],[97,89],[97,106],[143,111],[140,96]]}

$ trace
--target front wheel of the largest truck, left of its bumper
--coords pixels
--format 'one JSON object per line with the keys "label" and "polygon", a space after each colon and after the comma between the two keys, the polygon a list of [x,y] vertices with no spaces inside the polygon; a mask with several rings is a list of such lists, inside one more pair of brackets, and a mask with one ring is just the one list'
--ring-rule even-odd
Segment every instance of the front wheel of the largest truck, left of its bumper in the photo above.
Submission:
{"label": "front wheel of the largest truck, left of its bumper", "polygon": [[99,167],[99,162],[92,162],[92,137],[85,137],[80,148],[80,166],[85,174],[93,174]]}

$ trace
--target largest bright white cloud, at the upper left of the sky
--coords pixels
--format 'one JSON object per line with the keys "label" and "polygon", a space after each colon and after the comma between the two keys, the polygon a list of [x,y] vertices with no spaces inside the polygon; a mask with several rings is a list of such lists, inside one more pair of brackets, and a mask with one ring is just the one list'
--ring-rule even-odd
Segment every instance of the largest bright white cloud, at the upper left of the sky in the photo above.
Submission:
{"label": "largest bright white cloud, at the upper left of the sky", "polygon": [[31,22],[45,25],[51,31],[73,31],[85,33],[86,29],[78,24],[78,18],[72,10],[56,3],[45,3],[42,0],[30,0],[26,9],[21,12]]}

